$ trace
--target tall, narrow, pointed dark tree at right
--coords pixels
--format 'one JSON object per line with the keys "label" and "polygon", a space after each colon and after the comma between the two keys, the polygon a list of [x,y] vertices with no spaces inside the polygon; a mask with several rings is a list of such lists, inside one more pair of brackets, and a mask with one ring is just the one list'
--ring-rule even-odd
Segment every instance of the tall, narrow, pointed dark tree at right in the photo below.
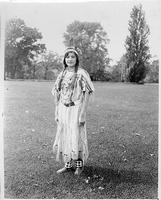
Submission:
{"label": "tall, narrow, pointed dark tree at right", "polygon": [[128,80],[139,83],[147,73],[147,63],[150,58],[148,46],[150,30],[141,5],[133,7],[130,17],[130,35],[125,42]]}

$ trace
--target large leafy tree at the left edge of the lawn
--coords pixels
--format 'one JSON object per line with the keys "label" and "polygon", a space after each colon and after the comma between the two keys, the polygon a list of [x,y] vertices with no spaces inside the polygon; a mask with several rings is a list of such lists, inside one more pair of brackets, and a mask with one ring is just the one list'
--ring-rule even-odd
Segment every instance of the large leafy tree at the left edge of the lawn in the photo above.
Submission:
{"label": "large leafy tree at the left edge of the lawn", "polygon": [[5,31],[5,74],[23,78],[23,65],[32,67],[34,56],[45,50],[45,45],[39,43],[42,34],[19,18],[10,19]]}

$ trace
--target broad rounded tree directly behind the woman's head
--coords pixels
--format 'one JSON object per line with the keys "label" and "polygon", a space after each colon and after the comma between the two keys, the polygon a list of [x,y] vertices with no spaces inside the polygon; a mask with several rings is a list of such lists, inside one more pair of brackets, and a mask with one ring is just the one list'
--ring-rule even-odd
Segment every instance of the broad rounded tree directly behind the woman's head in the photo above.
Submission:
{"label": "broad rounded tree directly behind the woman's head", "polygon": [[81,65],[93,78],[98,71],[104,71],[109,63],[106,48],[109,40],[100,23],[74,21],[67,26],[64,38],[65,46],[79,50]]}

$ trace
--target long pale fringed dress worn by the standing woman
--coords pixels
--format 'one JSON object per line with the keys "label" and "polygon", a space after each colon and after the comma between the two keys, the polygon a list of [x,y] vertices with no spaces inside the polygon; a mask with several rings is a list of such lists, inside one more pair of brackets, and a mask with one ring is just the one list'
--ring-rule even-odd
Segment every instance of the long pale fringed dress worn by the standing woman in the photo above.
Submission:
{"label": "long pale fringed dress worn by the standing woman", "polygon": [[[78,68],[75,78],[74,89],[71,87],[75,72],[65,70],[65,75],[59,91],[59,81],[61,72],[54,84],[52,94],[55,98],[59,96],[57,105],[58,123],[53,151],[56,153],[56,160],[64,163],[81,158],[83,163],[88,158],[88,143],[86,133],[86,123],[79,126],[79,114],[84,101],[84,93],[94,92],[94,86],[86,70]],[[74,106],[65,106],[64,103],[74,102]]]}

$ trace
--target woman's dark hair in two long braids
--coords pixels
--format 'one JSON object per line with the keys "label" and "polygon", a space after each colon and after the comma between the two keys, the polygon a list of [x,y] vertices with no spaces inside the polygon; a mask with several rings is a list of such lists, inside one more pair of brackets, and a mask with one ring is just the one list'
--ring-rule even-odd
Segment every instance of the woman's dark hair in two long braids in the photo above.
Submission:
{"label": "woman's dark hair in two long braids", "polygon": [[77,71],[78,71],[78,66],[79,66],[79,57],[78,55],[73,52],[73,51],[68,51],[65,55],[64,55],[64,59],[63,59],[63,64],[64,64],[64,70],[62,72],[62,76],[61,76],[61,79],[59,81],[59,91],[61,90],[61,83],[62,83],[62,80],[64,78],[64,72],[66,70],[66,68],[68,67],[68,65],[66,64],[65,62],[65,59],[66,57],[69,55],[69,53],[74,53],[74,55],[76,56],[76,64],[75,64],[75,75],[74,75],[74,79],[73,79],[73,83],[72,83],[72,88],[74,88],[74,84],[75,84],[75,80],[76,80],[76,75],[77,75]]}

